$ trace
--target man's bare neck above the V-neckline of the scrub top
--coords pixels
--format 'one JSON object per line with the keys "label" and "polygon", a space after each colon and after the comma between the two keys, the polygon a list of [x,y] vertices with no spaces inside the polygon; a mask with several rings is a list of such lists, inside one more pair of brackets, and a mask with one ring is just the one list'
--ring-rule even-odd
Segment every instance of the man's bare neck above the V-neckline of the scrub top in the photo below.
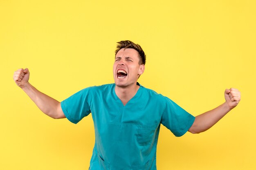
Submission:
{"label": "man's bare neck above the V-neckline of the scrub top", "polygon": [[138,89],[139,86],[137,85],[137,83],[128,87],[118,87],[117,85],[115,86],[115,92],[117,94],[117,97],[122,101],[124,106],[133,96],[135,96]]}

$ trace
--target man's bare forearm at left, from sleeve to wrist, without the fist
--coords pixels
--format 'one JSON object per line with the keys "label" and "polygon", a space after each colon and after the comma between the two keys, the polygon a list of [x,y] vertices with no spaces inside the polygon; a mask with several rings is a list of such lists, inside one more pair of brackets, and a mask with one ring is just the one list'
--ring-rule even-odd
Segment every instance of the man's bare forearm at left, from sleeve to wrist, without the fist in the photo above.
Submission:
{"label": "man's bare forearm at left, from sleeve to wrist, without the fist", "polygon": [[22,89],[43,113],[52,118],[58,118],[60,102],[38,91],[29,82]]}

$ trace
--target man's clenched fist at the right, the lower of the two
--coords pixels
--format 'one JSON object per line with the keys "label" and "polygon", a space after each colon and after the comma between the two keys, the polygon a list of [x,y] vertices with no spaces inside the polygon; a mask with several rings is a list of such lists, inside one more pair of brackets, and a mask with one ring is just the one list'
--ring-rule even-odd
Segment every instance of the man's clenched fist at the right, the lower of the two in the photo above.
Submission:
{"label": "man's clenched fist at the right, the lower of the two", "polygon": [[230,88],[225,90],[225,100],[230,109],[236,107],[241,100],[241,93],[238,89]]}

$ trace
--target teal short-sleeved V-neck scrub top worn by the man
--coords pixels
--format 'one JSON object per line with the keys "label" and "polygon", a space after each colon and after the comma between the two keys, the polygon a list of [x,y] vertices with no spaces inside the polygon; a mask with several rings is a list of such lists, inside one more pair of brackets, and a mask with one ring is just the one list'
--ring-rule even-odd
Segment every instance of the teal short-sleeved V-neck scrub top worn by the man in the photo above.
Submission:
{"label": "teal short-sleeved V-neck scrub top worn by the man", "polygon": [[92,113],[90,170],[156,170],[160,124],[175,136],[184,135],[193,124],[195,117],[171,99],[139,86],[125,106],[115,84],[88,87],[61,102],[66,118],[75,124]]}

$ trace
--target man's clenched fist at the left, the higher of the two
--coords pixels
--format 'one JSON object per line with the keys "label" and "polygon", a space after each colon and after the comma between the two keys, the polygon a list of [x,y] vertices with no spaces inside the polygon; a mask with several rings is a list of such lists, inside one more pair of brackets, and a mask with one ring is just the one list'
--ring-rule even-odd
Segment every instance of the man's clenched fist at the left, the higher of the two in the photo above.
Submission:
{"label": "man's clenched fist at the left, the higher of the two", "polygon": [[13,80],[19,87],[24,87],[29,81],[29,69],[18,69],[13,74]]}

